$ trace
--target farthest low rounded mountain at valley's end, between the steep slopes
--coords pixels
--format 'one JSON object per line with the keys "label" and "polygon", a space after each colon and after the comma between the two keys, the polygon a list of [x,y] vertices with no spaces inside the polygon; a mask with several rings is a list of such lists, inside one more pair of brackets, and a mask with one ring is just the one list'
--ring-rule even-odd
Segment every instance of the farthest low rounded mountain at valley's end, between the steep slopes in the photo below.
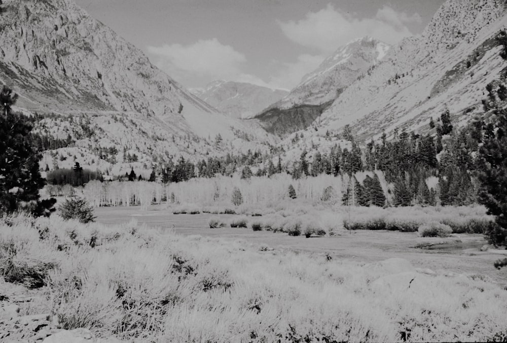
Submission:
{"label": "farthest low rounded mountain at valley's end, between the steep slopes", "polygon": [[249,118],[288,94],[287,91],[246,82],[216,80],[194,95],[233,118]]}

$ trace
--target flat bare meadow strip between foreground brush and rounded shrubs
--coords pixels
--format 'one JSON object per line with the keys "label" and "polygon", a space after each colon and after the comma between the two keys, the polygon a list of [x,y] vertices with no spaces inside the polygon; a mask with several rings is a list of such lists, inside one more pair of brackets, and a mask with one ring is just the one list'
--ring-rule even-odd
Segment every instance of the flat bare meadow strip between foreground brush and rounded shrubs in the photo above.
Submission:
{"label": "flat bare meadow strip between foreground brush and rounded shrubs", "polygon": [[328,253],[335,259],[361,263],[403,258],[416,268],[485,275],[507,286],[507,268],[496,270],[493,267],[494,261],[507,257],[507,250],[505,254],[502,254],[503,251],[481,251],[480,248],[487,244],[483,235],[453,234],[448,238],[422,238],[417,233],[341,230],[333,237],[291,237],[286,233],[254,232],[245,228],[210,229],[208,221],[211,217],[218,216],[227,223],[234,215],[173,215],[164,206],[152,206],[148,210],[142,210],[138,206],[101,207],[95,209],[95,216],[98,222],[104,224],[120,224],[135,219],[138,224],[172,230],[176,234],[242,240],[275,249]]}

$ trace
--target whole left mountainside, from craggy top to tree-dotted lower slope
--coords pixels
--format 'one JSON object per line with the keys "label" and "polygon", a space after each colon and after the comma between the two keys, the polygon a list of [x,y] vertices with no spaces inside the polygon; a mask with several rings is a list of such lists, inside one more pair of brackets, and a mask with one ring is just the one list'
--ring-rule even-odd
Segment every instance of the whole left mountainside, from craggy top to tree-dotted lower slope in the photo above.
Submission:
{"label": "whole left mountainside, from craggy top to tree-dotted lower slope", "polygon": [[136,152],[144,164],[253,148],[244,137],[255,130],[189,93],[72,0],[4,0],[0,8],[0,80],[19,93],[18,110],[56,114],[38,130],[70,135],[87,156],[82,164],[103,167],[93,158],[99,148]]}

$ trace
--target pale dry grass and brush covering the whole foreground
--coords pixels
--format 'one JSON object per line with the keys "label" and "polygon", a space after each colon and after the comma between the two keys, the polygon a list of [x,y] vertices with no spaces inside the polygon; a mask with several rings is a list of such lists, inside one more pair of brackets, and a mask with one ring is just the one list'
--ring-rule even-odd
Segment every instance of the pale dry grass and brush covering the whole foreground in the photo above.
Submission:
{"label": "pale dry grass and brush covering the whole foreground", "polygon": [[507,330],[505,290],[399,259],[329,261],[56,216],[0,224],[0,246],[19,266],[53,264],[41,278],[65,328],[135,341],[484,341]]}

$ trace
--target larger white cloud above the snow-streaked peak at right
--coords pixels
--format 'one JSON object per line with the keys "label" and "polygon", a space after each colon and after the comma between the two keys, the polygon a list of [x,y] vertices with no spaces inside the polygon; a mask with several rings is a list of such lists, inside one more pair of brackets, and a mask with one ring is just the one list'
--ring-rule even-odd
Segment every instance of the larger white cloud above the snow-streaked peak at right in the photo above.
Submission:
{"label": "larger white cloud above the snow-streaked peak at right", "polygon": [[388,6],[377,11],[374,18],[357,18],[329,4],[318,12],[307,13],[299,21],[278,22],[282,32],[292,41],[320,52],[331,53],[347,42],[364,36],[396,44],[412,33],[406,26],[420,22],[418,14],[409,16]]}

